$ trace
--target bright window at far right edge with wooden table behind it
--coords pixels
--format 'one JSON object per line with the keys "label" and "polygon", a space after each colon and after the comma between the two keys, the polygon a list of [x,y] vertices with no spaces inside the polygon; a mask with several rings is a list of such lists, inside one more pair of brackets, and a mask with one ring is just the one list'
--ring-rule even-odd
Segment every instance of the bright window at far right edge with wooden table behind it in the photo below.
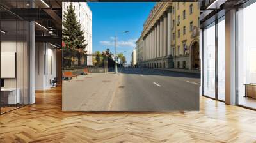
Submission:
{"label": "bright window at far right edge with wooden table behind it", "polygon": [[252,19],[255,13],[256,3],[237,12],[237,102],[253,109],[256,109],[256,87],[250,84],[256,84],[256,20]]}

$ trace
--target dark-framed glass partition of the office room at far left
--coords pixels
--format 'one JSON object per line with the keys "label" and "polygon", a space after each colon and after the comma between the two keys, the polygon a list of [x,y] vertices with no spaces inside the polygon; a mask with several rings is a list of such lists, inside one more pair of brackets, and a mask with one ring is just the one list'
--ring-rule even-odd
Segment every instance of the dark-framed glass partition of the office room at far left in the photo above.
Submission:
{"label": "dark-framed glass partition of the office room at far left", "polygon": [[[19,1],[19,8],[25,6],[25,2]],[[0,114],[3,114],[29,103],[29,22],[10,15],[8,20],[0,18],[0,29]],[[11,93],[3,94],[2,87],[11,87]]]}

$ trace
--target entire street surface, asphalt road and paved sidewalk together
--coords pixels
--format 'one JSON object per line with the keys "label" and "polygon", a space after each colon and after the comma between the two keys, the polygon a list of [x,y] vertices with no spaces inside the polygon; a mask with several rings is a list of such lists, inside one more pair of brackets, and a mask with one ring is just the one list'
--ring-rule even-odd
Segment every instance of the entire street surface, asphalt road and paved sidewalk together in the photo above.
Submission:
{"label": "entire street surface, asphalt road and paved sidewalk together", "polygon": [[63,83],[63,110],[199,110],[200,75],[149,68],[92,73]]}

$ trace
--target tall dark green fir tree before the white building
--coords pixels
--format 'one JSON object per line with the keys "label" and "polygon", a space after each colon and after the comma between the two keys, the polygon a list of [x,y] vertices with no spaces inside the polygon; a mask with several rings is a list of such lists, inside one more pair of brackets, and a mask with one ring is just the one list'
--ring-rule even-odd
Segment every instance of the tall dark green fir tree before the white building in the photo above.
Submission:
{"label": "tall dark green fir tree before the white building", "polygon": [[77,21],[77,16],[74,6],[70,3],[67,12],[63,15],[63,33],[62,39],[68,47],[76,49],[85,49],[84,31],[81,29],[81,24]]}

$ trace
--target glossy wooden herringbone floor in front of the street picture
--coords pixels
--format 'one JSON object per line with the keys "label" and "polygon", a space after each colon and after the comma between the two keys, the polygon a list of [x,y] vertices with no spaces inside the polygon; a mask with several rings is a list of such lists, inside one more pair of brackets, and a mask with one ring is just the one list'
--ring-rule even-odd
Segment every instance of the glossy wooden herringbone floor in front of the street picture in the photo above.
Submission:
{"label": "glossy wooden herringbone floor in front of the street picture", "polygon": [[0,142],[256,142],[256,112],[201,97],[200,112],[61,112],[61,88],[0,116]]}

